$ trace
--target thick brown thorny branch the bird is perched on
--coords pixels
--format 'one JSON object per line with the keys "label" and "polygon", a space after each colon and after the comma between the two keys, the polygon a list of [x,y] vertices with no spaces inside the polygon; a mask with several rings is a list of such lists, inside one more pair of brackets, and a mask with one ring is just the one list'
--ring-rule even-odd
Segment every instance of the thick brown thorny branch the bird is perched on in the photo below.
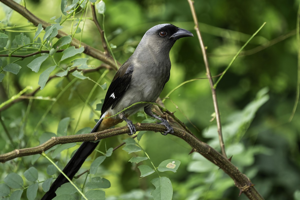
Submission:
{"label": "thick brown thorny branch the bird is perched on", "polygon": [[[137,131],[154,131],[154,132],[164,132],[166,127],[161,124],[134,124]],[[257,192],[254,188],[254,185],[251,183],[250,179],[241,173],[236,166],[234,166],[226,157],[221,155],[219,152],[214,150],[212,147],[207,145],[204,142],[201,142],[195,136],[187,133],[184,130],[179,128],[175,128],[174,133],[172,135],[179,137],[186,141],[192,148],[196,149],[196,151],[202,154],[206,159],[223,169],[223,171],[228,174],[235,183],[235,186],[240,189],[241,192],[245,193],[245,195],[249,199],[259,199],[262,200],[262,196]],[[25,149],[16,149],[6,154],[0,155],[0,162],[4,163],[8,160],[12,160],[16,157],[41,154],[42,152],[48,150],[49,148],[58,145],[58,144],[67,144],[73,142],[84,142],[84,141],[96,141],[99,139],[104,139],[112,136],[117,136],[125,133],[130,133],[130,130],[127,126],[118,127],[113,129],[104,130],[97,133],[87,133],[80,135],[72,135],[72,136],[61,136],[61,137],[52,137],[47,142],[33,148],[25,148]],[[169,133],[171,134],[171,133]]]}

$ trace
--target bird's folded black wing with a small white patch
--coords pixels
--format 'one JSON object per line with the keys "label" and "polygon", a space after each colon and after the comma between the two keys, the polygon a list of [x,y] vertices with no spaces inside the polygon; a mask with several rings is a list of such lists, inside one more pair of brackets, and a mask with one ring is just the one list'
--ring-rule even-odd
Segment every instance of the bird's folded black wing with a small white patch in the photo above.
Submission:
{"label": "bird's folded black wing with a small white patch", "polygon": [[105,95],[101,114],[106,112],[111,106],[111,109],[113,109],[117,105],[130,84],[133,68],[133,64],[128,64],[126,61],[117,71]]}

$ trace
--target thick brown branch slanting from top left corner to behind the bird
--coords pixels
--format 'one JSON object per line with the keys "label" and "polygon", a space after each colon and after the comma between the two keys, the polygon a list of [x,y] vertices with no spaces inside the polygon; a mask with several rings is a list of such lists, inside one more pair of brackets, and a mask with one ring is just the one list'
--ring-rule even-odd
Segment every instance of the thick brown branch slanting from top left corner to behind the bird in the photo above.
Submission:
{"label": "thick brown branch slanting from top left corner to behind the bird", "polygon": [[[8,7],[12,8],[22,16],[24,16],[26,19],[28,19],[30,22],[32,22],[35,26],[38,26],[38,24],[41,24],[43,28],[45,29],[47,26],[50,26],[48,22],[38,18],[34,14],[32,14],[29,10],[26,9],[26,7],[23,7],[22,5],[16,3],[13,0],[0,0],[2,3],[7,5]],[[58,30],[58,34],[56,35],[57,38],[61,38],[63,36],[67,36],[65,32]],[[79,40],[73,38],[70,45],[75,46],[76,48],[79,48],[80,46],[84,47],[84,53],[87,55],[90,55],[93,58],[96,58],[98,60],[103,61],[104,63],[110,65],[114,70],[117,70],[115,61],[109,56],[105,55],[102,51],[95,49],[94,47],[91,47],[83,42],[80,42]]]}

